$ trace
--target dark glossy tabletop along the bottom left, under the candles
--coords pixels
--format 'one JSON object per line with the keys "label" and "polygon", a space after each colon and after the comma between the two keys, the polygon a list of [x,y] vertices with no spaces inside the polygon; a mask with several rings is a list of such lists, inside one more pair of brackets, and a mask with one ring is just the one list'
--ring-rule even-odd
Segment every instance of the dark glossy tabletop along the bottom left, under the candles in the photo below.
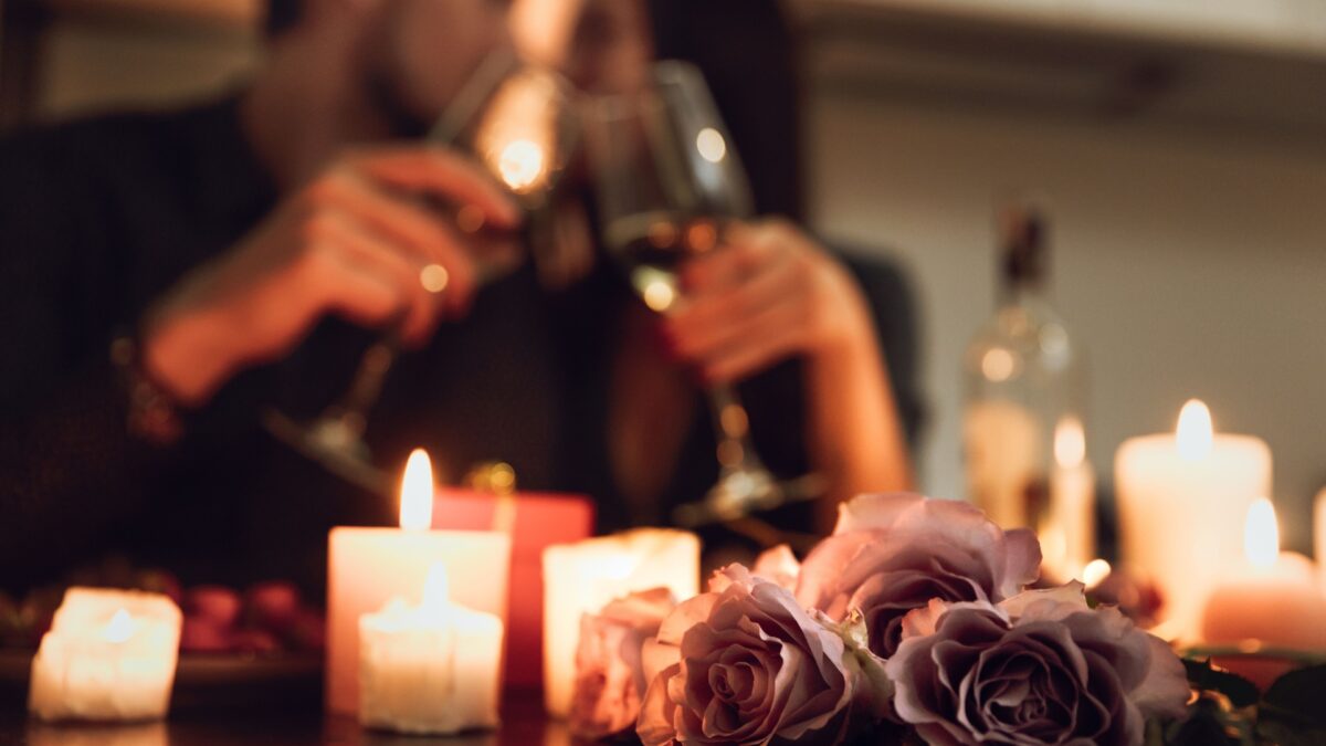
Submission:
{"label": "dark glossy tabletop along the bottom left, under the candles", "polygon": [[325,715],[318,706],[224,706],[172,710],[164,722],[142,725],[50,725],[28,717],[12,700],[0,709],[0,745],[32,746],[569,746],[565,723],[544,714],[538,692],[511,692],[503,726],[452,737],[365,730],[354,718]]}

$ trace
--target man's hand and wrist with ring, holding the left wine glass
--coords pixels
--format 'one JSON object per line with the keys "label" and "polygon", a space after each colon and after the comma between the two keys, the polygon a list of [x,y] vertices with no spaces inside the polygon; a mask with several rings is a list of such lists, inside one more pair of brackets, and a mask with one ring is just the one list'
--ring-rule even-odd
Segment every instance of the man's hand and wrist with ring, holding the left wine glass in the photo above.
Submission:
{"label": "man's hand and wrist with ring, holding the left wine glass", "polygon": [[468,311],[479,272],[467,240],[416,195],[477,210],[499,228],[520,220],[459,155],[395,146],[343,157],[155,305],[142,329],[147,373],[198,405],[333,313],[365,327],[399,323],[406,344],[422,344]]}

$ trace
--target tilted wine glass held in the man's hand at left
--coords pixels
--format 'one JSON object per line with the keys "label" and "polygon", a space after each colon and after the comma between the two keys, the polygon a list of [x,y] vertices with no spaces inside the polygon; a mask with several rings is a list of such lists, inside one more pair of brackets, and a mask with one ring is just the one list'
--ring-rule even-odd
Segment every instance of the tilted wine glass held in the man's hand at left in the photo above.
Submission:
{"label": "tilted wine glass held in the man's hand at left", "polygon": [[[484,226],[473,206],[428,203],[468,236],[480,285],[520,267],[525,255],[513,248],[517,244],[529,248],[536,265],[557,264],[558,244],[549,238],[550,195],[579,137],[574,102],[570,84],[560,74],[526,65],[508,49],[495,49],[428,133],[427,142],[475,157],[525,212],[522,240],[517,242],[517,236]],[[424,272],[432,276],[420,275],[420,281],[446,292],[444,269],[430,265]],[[390,491],[390,482],[370,462],[363,433],[399,352],[399,324],[392,324],[365,352],[346,393],[318,417],[298,422],[271,409],[264,426],[329,471],[373,491]]]}

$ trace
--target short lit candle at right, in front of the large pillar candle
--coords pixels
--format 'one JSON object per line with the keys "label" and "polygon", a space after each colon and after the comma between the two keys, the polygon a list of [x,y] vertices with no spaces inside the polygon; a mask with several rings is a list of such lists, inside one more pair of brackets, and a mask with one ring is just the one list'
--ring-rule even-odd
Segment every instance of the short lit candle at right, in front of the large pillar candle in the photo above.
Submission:
{"label": "short lit candle at right, in front of the large pillar candle", "polygon": [[[1207,601],[1201,633],[1207,642],[1326,650],[1326,593],[1313,563],[1298,552],[1280,551],[1280,527],[1270,500],[1248,508],[1244,530],[1246,561]],[[1289,668],[1286,661],[1229,658],[1220,661],[1265,686]]]}

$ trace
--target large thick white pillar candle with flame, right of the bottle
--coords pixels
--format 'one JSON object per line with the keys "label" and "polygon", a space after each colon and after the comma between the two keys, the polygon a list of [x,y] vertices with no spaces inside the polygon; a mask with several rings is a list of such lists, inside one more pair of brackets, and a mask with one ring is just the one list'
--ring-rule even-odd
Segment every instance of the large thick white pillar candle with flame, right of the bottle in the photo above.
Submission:
{"label": "large thick white pillar candle with flame, right of the bottle", "polygon": [[1163,631],[1189,640],[1248,506],[1270,494],[1270,449],[1215,434],[1207,405],[1192,400],[1174,435],[1130,438],[1114,469],[1123,560],[1159,585]]}

